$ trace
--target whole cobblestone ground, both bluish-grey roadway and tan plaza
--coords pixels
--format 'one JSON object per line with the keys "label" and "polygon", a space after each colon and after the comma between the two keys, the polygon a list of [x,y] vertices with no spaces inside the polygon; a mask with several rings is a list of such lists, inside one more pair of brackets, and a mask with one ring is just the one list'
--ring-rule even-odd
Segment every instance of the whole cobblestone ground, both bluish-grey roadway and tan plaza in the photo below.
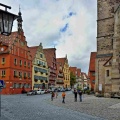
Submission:
{"label": "whole cobblestone ground, both bluish-grey roadway and tan plaza", "polygon": [[83,102],[74,102],[73,93],[61,93],[51,101],[45,95],[2,95],[0,120],[119,120],[120,99],[96,98],[84,95]]}

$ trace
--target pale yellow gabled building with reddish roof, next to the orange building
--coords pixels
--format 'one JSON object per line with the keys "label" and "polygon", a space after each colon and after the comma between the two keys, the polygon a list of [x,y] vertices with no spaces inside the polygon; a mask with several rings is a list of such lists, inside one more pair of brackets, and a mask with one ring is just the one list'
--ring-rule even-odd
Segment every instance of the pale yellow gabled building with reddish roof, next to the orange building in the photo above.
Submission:
{"label": "pale yellow gabled building with reddish roof, next to the orange building", "polygon": [[30,47],[32,53],[32,89],[48,89],[48,65],[43,52],[42,43],[36,47]]}

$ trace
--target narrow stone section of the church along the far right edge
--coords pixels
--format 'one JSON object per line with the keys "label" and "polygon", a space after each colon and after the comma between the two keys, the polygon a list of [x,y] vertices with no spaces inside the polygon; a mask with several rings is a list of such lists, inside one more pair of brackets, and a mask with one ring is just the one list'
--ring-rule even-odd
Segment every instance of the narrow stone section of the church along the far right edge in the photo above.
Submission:
{"label": "narrow stone section of the church along the far right edge", "polygon": [[120,92],[120,2],[115,6],[114,45],[112,61],[112,92]]}

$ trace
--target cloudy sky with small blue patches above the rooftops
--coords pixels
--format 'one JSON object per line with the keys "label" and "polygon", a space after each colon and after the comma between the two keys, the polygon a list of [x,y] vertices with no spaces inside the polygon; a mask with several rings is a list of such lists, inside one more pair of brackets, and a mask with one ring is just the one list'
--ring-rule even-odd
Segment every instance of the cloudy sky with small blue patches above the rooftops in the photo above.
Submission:
{"label": "cloudy sky with small blue patches above the rooftops", "polygon": [[[55,47],[57,58],[67,54],[69,65],[88,73],[90,53],[96,51],[97,0],[0,0],[18,14],[28,46],[42,42]],[[0,9],[4,9],[0,6]],[[17,30],[14,22],[13,31]]]}

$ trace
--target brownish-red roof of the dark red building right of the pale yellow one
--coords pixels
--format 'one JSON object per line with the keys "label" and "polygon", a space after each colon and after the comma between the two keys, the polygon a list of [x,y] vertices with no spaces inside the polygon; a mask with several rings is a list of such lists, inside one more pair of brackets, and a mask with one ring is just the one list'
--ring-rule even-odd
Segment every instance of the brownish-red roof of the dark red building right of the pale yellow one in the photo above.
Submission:
{"label": "brownish-red roof of the dark red building right of the pale yellow one", "polygon": [[48,63],[49,67],[52,67],[53,65],[53,59],[56,59],[56,54],[55,54],[56,48],[45,48],[43,49],[43,52],[46,57],[46,61]]}

